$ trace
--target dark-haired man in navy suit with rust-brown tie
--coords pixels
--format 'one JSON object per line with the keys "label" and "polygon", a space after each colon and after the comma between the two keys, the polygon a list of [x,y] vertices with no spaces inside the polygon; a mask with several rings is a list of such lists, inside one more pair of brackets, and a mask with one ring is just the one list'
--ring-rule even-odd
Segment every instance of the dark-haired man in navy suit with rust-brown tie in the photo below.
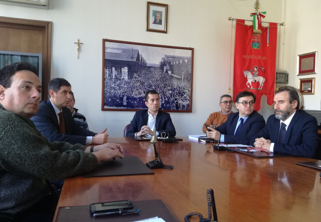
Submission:
{"label": "dark-haired man in navy suit with rust-brown tie", "polygon": [[62,78],[51,79],[48,84],[48,100],[42,101],[39,110],[31,120],[49,142],[62,141],[71,144],[104,144],[108,134],[103,130],[99,134],[83,129],[74,122],[67,108],[72,91],[70,83]]}

